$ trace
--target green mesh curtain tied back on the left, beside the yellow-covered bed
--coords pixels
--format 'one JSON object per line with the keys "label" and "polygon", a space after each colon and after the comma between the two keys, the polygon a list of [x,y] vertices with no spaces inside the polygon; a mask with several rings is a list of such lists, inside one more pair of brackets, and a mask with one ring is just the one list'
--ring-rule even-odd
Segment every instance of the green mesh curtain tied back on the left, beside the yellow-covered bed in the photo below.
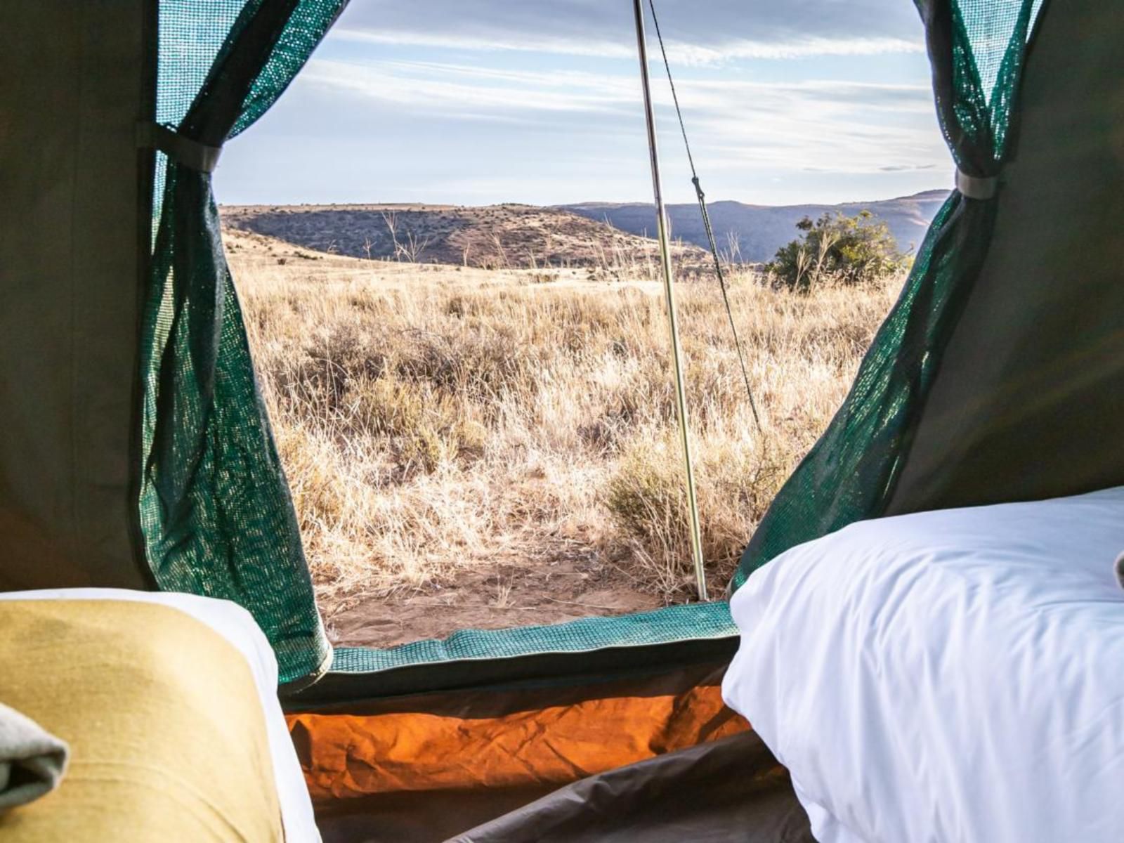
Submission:
{"label": "green mesh curtain tied back on the left, beside the yellow-covered bed", "polygon": [[[157,116],[218,146],[277,100],[346,0],[161,0]],[[247,608],[282,682],[332,654],[223,254],[211,180],[166,161],[142,328],[140,525],[160,588]]]}

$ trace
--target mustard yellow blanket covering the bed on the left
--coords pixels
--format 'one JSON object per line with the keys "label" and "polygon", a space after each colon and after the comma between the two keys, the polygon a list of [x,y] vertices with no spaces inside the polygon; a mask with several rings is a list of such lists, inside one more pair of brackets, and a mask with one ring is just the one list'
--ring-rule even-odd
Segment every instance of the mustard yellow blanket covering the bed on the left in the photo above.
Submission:
{"label": "mustard yellow blanket covering the bed on the left", "polygon": [[55,792],[0,814],[3,843],[283,837],[250,668],[178,609],[0,601],[0,701],[72,751]]}

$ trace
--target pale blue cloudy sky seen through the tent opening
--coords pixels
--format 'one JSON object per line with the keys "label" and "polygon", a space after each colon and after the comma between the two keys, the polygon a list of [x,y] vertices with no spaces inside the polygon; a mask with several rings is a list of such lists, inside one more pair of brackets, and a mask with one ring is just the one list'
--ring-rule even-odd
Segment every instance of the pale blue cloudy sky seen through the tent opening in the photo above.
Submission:
{"label": "pale blue cloudy sky seen through the tent opening", "polygon": [[[656,0],[709,200],[948,188],[910,0]],[[651,24],[664,192],[694,201]],[[230,140],[225,203],[651,201],[627,0],[352,0]]]}

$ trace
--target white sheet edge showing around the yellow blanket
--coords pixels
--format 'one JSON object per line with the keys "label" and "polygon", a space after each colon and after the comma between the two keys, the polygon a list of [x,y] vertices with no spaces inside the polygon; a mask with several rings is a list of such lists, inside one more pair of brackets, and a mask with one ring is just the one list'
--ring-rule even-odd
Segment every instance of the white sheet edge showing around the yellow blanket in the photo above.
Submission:
{"label": "white sheet edge showing around the yellow blanket", "polygon": [[246,659],[265,711],[266,736],[273,760],[281,822],[287,843],[319,843],[312,801],[289,738],[289,728],[278,700],[278,664],[264,633],[253,616],[228,600],[180,593],[149,593],[109,588],[45,589],[0,593],[0,600],[137,600],[171,606],[191,615],[229,641]]}

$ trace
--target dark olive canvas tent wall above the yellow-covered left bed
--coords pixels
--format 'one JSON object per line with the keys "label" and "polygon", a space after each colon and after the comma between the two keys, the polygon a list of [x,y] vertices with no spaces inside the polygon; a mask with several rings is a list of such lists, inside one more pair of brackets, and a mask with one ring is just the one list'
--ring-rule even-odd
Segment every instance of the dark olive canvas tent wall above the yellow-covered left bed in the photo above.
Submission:
{"label": "dark olive canvas tent wall above the yellow-covered left bed", "polygon": [[152,3],[0,9],[0,587],[149,588],[136,541]]}

